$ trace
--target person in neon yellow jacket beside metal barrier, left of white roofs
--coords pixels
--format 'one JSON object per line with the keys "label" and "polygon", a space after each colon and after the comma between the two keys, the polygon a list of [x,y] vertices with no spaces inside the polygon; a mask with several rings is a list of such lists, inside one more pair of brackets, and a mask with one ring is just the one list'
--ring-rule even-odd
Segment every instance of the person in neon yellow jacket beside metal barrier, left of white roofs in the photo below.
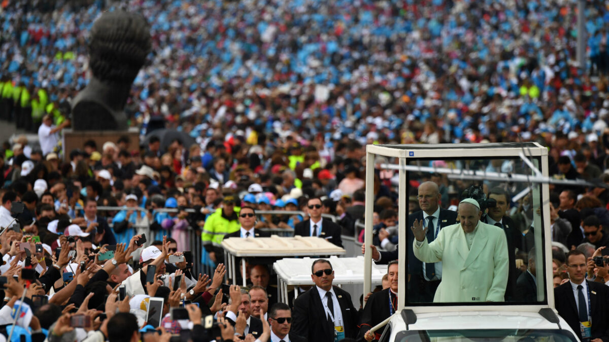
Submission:
{"label": "person in neon yellow jacket beside metal barrier, left of white roofs", "polygon": [[238,214],[240,210],[241,208],[236,206],[234,197],[227,196],[222,201],[222,208],[216,209],[205,220],[201,240],[209,257],[216,265],[224,262],[224,250],[222,250],[224,236],[239,231],[241,223],[239,223]]}

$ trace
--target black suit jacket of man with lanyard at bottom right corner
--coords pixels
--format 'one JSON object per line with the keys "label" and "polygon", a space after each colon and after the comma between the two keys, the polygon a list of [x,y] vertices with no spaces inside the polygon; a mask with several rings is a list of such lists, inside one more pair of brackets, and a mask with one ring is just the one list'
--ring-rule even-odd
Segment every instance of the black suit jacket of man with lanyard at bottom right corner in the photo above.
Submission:
{"label": "black suit jacket of man with lanyard at bottom right corner", "polygon": [[[598,282],[586,281],[590,288],[590,311],[592,313],[592,340],[600,338],[609,342],[609,286]],[[587,295],[584,295],[587,297]],[[577,337],[582,340],[579,329],[576,299],[571,282],[554,288],[554,301],[558,315],[565,319]]]}

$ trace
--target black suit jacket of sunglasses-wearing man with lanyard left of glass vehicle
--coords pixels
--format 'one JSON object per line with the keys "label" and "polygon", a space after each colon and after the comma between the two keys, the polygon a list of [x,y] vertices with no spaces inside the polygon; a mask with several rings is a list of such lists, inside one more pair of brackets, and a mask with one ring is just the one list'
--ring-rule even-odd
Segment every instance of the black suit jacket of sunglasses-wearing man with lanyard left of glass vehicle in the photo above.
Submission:
{"label": "black suit jacket of sunglasses-wearing man with lanyard left of glass vehicle", "polygon": [[[355,338],[357,335],[357,323],[359,323],[359,313],[353,307],[351,296],[347,291],[336,286],[333,288],[343,316],[345,337]],[[313,286],[311,290],[306,291],[294,300],[292,318],[294,320],[292,321],[290,333],[304,337],[307,341],[334,341],[334,330],[328,324],[317,286]]]}

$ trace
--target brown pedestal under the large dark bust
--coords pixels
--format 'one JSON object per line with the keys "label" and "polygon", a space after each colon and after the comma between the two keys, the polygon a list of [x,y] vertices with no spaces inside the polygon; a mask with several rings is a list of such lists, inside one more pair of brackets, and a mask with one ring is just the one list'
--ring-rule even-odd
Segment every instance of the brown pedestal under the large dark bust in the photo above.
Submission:
{"label": "brown pedestal under the large dark bust", "polygon": [[69,161],[69,154],[75,148],[83,149],[85,141],[93,140],[97,144],[97,151],[102,153],[104,142],[111,141],[116,144],[121,136],[129,138],[129,147],[127,152],[139,151],[139,130],[136,127],[130,127],[127,131],[74,131],[71,128],[63,130],[62,146],[63,158]]}

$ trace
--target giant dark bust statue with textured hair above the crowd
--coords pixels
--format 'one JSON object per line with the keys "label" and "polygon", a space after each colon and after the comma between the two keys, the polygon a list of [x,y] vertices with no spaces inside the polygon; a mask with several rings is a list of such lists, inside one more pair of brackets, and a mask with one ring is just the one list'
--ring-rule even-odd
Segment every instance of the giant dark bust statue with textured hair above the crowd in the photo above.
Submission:
{"label": "giant dark bust statue with textured hair above the crowd", "polygon": [[150,26],[138,13],[106,12],[93,23],[88,52],[93,75],[72,101],[72,128],[127,130],[125,103],[150,52]]}

